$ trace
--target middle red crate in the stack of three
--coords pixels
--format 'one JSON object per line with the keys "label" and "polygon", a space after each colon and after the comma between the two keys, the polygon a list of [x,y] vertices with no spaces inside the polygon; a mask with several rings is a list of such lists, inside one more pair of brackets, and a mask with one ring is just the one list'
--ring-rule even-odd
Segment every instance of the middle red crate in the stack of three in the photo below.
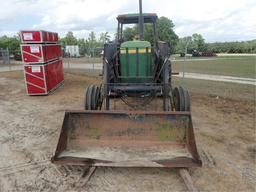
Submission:
{"label": "middle red crate in the stack of three", "polygon": [[61,46],[25,44],[21,46],[21,53],[25,64],[45,63],[61,57]]}

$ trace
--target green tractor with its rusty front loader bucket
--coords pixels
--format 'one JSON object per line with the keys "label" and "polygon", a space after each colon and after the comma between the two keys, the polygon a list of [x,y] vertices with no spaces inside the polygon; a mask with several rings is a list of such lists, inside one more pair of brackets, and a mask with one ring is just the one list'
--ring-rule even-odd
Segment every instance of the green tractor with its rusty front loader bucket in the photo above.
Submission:
{"label": "green tractor with its rusty front loader bucket", "polygon": [[[104,45],[103,83],[85,91],[85,110],[66,111],[52,162],[93,167],[198,167],[188,91],[172,87],[170,45],[159,41],[157,15],[117,17],[115,42]],[[154,44],[144,40],[152,24]],[[125,41],[125,24],[139,40]],[[161,98],[162,111],[113,110],[112,98]],[[138,108],[136,108],[138,109]]]}

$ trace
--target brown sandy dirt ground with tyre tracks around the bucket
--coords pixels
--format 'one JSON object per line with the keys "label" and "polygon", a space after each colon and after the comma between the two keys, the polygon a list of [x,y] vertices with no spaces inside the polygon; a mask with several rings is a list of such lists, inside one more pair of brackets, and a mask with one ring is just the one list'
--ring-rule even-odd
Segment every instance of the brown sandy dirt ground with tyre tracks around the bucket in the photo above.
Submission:
{"label": "brown sandy dirt ground with tyre tracks around the bucket", "polygon": [[[84,88],[100,77],[65,73],[49,96],[27,96],[22,72],[0,73],[0,191],[186,191],[175,169],[98,168],[86,186],[82,167],[50,163],[66,109],[82,109]],[[199,93],[192,114],[202,168],[200,191],[255,191],[255,103]]]}

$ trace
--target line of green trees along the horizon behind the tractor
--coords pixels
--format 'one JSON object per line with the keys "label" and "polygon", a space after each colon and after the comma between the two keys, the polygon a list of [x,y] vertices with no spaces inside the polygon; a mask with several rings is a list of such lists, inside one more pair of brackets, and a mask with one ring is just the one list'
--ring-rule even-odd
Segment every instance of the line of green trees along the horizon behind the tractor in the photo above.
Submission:
{"label": "line of green trees along the horizon behind the tractor", "polygon": [[[214,53],[256,53],[256,39],[251,41],[236,42],[216,42],[207,43],[201,34],[194,33],[187,37],[178,37],[174,32],[174,24],[167,17],[160,17],[157,20],[157,29],[159,40],[168,42],[171,45],[171,53],[185,53],[186,50],[196,49],[198,51],[208,51]],[[145,40],[153,45],[153,28],[150,24],[144,27]],[[133,40],[138,35],[138,25],[127,27],[123,31],[125,41]],[[60,38],[60,44],[78,45],[80,55],[92,55],[95,49],[102,49],[105,43],[109,42],[111,37],[108,32],[101,33],[96,37],[95,32],[91,31],[88,38],[76,38],[73,32],[68,32],[65,37]],[[18,35],[13,37],[0,37],[0,48],[8,48],[11,54],[15,54],[20,49],[20,40]]]}

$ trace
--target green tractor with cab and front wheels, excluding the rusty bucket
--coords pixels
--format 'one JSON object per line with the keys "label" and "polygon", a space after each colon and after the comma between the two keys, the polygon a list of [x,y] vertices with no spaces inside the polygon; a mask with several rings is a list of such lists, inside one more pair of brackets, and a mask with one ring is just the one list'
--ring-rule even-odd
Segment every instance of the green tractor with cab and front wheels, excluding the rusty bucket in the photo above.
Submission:
{"label": "green tractor with cab and front wheels, excluding the rusty bucket", "polygon": [[[172,88],[170,45],[159,41],[157,15],[154,13],[126,14],[117,17],[117,39],[104,45],[102,88],[93,85],[86,89],[85,110],[110,109],[111,97],[163,98],[164,111],[189,111],[190,97],[182,87]],[[144,23],[153,28],[153,45],[144,40]],[[139,25],[139,40],[125,41],[125,24]]]}

